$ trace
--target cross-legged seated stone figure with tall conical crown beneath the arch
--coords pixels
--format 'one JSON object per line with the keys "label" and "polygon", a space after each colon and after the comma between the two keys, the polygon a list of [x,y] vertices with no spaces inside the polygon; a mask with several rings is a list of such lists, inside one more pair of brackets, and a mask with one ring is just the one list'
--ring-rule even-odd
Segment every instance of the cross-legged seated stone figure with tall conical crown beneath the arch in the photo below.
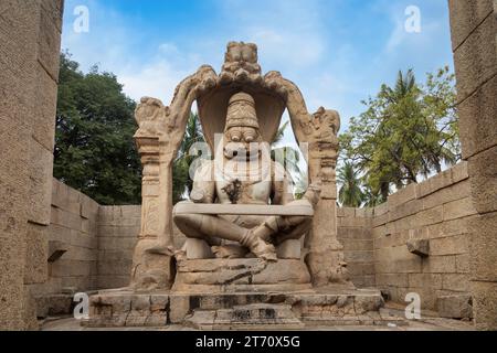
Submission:
{"label": "cross-legged seated stone figure with tall conical crown beneath the arch", "polygon": [[212,215],[178,214],[182,204],[173,211],[180,231],[187,237],[205,240],[213,246],[218,257],[243,257],[251,252],[275,261],[274,245],[299,239],[310,228],[310,216],[215,215],[214,203],[271,203],[310,210],[317,204],[319,188],[315,185],[308,189],[303,200],[294,201],[292,180],[279,163],[271,160],[267,146],[260,132],[254,98],[243,92],[234,94],[228,105],[223,141],[216,148],[214,160],[203,163],[197,171],[190,194],[194,203],[211,204]]}

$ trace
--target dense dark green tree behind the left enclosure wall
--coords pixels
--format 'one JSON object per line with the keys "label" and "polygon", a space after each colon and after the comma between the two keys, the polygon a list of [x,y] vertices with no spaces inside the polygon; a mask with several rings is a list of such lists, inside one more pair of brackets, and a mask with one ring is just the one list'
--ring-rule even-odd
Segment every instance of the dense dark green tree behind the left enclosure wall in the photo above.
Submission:
{"label": "dense dark green tree behind the left enclosure wall", "polygon": [[101,204],[140,203],[135,101],[114,74],[61,54],[54,176]]}

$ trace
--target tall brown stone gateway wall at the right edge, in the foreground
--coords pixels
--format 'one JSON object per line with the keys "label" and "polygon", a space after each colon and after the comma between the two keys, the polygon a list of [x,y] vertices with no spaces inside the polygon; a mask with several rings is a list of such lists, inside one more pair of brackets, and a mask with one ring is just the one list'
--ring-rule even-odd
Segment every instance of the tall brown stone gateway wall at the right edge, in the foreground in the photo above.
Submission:
{"label": "tall brown stone gateway wall at the right edge, in the foreground", "polygon": [[463,158],[473,204],[470,290],[477,329],[497,330],[497,1],[450,0]]}

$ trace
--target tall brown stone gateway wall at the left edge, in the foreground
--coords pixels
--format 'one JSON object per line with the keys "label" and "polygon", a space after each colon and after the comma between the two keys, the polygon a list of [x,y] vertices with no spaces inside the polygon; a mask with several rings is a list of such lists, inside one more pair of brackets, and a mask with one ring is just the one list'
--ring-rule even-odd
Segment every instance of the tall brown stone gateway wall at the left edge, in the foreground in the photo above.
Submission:
{"label": "tall brown stone gateway wall at the left edge, in the foreground", "polygon": [[0,329],[36,329],[47,277],[62,0],[0,2]]}

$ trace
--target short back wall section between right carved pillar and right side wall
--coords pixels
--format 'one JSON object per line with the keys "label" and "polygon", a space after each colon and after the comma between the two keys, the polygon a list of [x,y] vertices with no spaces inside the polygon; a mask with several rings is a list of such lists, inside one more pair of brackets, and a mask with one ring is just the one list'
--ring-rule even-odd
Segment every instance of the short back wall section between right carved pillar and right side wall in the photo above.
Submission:
{"label": "short back wall section between right carved pillar and right side wall", "polygon": [[352,282],[361,287],[374,286],[374,257],[371,233],[372,210],[337,208],[338,240]]}

